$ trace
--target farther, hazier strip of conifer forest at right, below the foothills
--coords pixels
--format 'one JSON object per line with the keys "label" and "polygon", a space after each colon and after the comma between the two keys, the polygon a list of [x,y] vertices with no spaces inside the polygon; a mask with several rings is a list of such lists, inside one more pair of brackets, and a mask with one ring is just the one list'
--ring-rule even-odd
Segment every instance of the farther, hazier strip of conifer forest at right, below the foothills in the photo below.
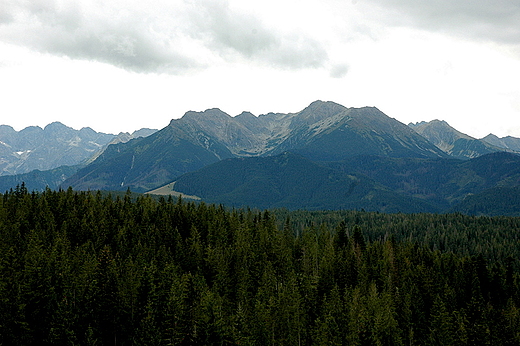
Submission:
{"label": "farther, hazier strip of conifer forest at right, below the foothills", "polygon": [[[483,255],[493,261],[520,256],[520,218],[454,214],[385,214],[359,211],[289,211],[276,209],[278,220],[290,216],[296,234],[308,228],[344,222],[347,234],[359,229],[365,241],[392,240],[424,245],[463,256]],[[330,225],[330,226],[329,226]],[[278,227],[282,227],[279,222]]]}

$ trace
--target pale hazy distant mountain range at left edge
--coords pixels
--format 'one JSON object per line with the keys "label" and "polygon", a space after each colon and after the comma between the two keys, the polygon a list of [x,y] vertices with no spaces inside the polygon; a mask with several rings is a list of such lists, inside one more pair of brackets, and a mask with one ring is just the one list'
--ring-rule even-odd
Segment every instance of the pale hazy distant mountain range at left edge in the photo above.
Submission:
{"label": "pale hazy distant mountain range at left edge", "polygon": [[91,128],[75,130],[60,122],[21,131],[0,125],[0,189],[22,182],[34,190],[57,188],[78,169],[94,161],[111,144],[148,136],[157,130],[141,129],[118,135]]}

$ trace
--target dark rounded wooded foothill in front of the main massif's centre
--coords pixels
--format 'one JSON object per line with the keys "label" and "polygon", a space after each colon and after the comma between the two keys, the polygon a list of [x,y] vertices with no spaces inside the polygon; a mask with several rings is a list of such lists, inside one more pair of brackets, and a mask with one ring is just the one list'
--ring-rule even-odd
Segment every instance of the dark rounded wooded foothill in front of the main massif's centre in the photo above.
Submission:
{"label": "dark rounded wooded foothill in front of the main massif's centre", "polygon": [[318,165],[300,155],[235,158],[179,177],[175,191],[207,202],[258,208],[435,211],[363,176]]}

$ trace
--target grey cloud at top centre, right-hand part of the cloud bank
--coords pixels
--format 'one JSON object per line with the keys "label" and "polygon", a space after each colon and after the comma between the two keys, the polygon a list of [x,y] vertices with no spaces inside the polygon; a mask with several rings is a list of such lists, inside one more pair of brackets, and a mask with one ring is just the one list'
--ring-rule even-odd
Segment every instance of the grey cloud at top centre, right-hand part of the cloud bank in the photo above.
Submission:
{"label": "grey cloud at top centre, right-hand part of the cloud bank", "polygon": [[191,2],[190,32],[225,58],[234,54],[275,67],[323,66],[328,55],[319,41],[299,33],[282,34],[259,18],[233,11],[225,1]]}

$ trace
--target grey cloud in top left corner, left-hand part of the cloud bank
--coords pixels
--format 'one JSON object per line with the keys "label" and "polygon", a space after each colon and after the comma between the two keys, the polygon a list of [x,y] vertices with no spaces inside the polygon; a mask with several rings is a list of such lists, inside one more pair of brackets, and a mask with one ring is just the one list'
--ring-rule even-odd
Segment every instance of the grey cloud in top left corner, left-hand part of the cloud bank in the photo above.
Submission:
{"label": "grey cloud in top left corner, left-hand part of the cloud bank", "polygon": [[153,30],[140,13],[111,16],[79,2],[58,6],[32,1],[10,6],[15,18],[0,25],[0,40],[73,59],[95,60],[135,72],[182,73],[202,66],[175,49],[171,36]]}

